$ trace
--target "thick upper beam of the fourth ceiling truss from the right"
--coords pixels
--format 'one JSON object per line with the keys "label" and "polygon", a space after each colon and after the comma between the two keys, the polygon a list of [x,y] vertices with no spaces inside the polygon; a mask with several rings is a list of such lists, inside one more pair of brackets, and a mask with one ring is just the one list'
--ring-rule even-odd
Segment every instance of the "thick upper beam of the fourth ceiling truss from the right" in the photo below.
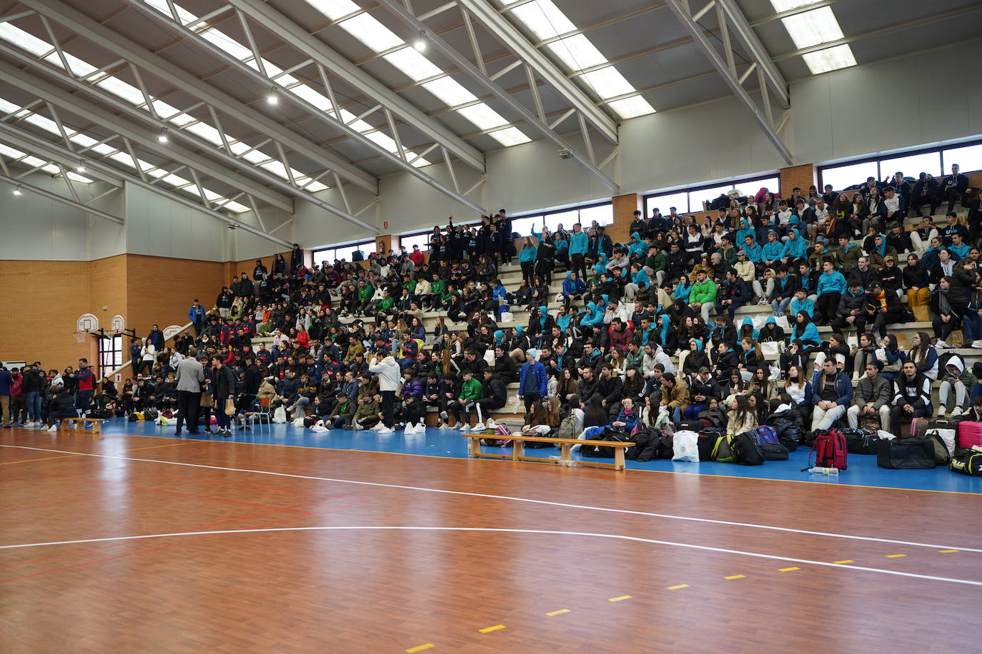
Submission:
{"label": "thick upper beam of the fourth ceiling truss from the right", "polygon": [[235,117],[246,125],[255,126],[303,157],[336,171],[371,193],[378,192],[378,178],[356,168],[340,155],[319,147],[295,131],[271,120],[214,85],[201,81],[187,71],[155,55],[123,34],[101,25],[94,19],[61,0],[23,0],[21,3],[42,16],[64,25],[85,39],[96,43],[144,71],[160,77],[176,88],[183,89],[212,105],[222,113]]}

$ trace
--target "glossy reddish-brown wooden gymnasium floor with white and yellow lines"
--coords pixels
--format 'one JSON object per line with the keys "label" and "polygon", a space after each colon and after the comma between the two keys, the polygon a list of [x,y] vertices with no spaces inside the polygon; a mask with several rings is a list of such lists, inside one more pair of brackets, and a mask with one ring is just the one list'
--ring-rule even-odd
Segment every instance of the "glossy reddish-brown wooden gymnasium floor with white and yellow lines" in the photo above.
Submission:
{"label": "glossy reddish-brown wooden gymnasium floor with white and yellow lines", "polygon": [[982,498],[0,433],[0,651],[976,650]]}

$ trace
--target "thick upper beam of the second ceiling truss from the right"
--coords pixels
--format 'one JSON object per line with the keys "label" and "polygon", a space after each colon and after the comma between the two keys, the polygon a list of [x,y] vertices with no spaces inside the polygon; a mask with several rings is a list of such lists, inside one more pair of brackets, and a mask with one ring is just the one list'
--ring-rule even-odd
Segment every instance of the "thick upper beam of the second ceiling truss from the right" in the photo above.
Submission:
{"label": "thick upper beam of the second ceiling truss from the right", "polygon": [[[594,103],[583,89],[564,74],[556,64],[536,48],[515,25],[498,13],[486,0],[458,0],[488,31],[494,34],[516,56],[531,66],[550,86],[566,98],[576,111],[611,143],[618,142],[618,125]],[[389,4],[389,3],[384,3]]]}

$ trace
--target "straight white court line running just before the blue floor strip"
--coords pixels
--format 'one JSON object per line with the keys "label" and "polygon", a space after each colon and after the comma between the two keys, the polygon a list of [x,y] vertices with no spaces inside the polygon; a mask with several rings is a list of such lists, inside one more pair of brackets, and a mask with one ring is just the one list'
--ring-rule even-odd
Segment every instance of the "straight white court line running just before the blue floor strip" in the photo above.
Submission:
{"label": "straight white court line running just before the blue floor strip", "polygon": [[[204,442],[204,441],[202,441]],[[671,514],[663,513],[649,513],[646,511],[630,511],[627,509],[611,509],[607,507],[599,506],[588,506],[583,504],[567,504],[565,502],[550,502],[548,500],[536,500],[527,497],[510,497],[508,495],[489,495],[486,493],[471,493],[464,490],[444,490],[441,488],[426,488],[423,486],[406,486],[399,485],[395,483],[380,483],[377,481],[356,481],[355,479],[339,479],[330,477],[311,477],[307,475],[291,475],[289,473],[274,473],[267,470],[249,470],[247,468],[222,468],[221,466],[205,466],[203,464],[196,463],[183,463],[180,461],[164,461],[160,459],[136,459],[135,457],[124,457],[116,456],[111,454],[88,454],[85,452],[71,452],[68,450],[53,450],[46,447],[27,447],[27,445],[0,445],[0,447],[12,447],[16,449],[24,450],[38,450],[41,452],[57,452],[61,454],[78,454],[79,456],[86,457],[96,457],[100,459],[118,459],[120,461],[140,461],[144,463],[159,463],[166,464],[169,466],[183,466],[186,468],[204,468],[207,470],[222,470],[231,473],[252,473],[254,475],[269,475],[272,477],[287,477],[287,478],[297,478],[297,479],[314,479],[317,481],[334,481],[337,483],[355,483],[363,486],[376,486],[381,488],[399,488],[402,490],[421,490],[430,493],[444,493],[448,495],[466,495],[469,497],[485,497],[487,499],[499,499],[499,500],[509,500],[512,502],[527,502],[529,504],[543,504],[546,506],[559,506],[568,509],[582,509],[584,511],[601,511],[605,513],[621,513],[632,516],[648,516],[650,518],[665,518],[668,520],[683,520],[693,523],[708,523],[711,525],[725,525],[727,527],[746,527],[746,528],[756,528],[756,529],[769,529],[772,531],[785,531],[788,533],[803,533],[806,535],[813,536],[826,536],[829,538],[846,538],[848,540],[865,540],[868,542],[880,542],[880,543],[890,543],[892,545],[910,545],[912,547],[931,547],[936,549],[956,549],[962,552],[980,552],[982,549],[972,548],[972,547],[961,547],[958,545],[938,545],[933,543],[920,543],[910,540],[894,540],[891,538],[876,538],[873,536],[857,536],[850,535],[846,533],[833,533],[827,531],[811,531],[808,529],[795,529],[790,527],[774,527],[771,525],[755,525],[753,523],[735,523],[726,520],[713,520],[711,518],[693,518],[690,516],[674,516]]]}

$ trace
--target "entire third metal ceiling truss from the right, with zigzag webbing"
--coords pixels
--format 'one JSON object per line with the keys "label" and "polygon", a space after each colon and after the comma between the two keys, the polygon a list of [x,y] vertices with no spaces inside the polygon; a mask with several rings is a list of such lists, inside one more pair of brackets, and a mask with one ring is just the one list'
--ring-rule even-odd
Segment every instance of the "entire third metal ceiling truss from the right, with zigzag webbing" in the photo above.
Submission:
{"label": "entire third metal ceiling truss from the right, with zigzag webbing", "polygon": [[[421,129],[427,135],[431,137],[438,138],[437,142],[440,147],[452,150],[456,155],[458,155],[462,161],[466,164],[476,168],[479,171],[484,170],[484,159],[483,155],[476,149],[464,143],[464,140],[460,137],[453,135],[449,130],[442,126],[437,126],[435,121],[429,120],[425,114],[423,114],[418,109],[412,108],[408,102],[397,96],[394,92],[382,86],[377,80],[373,80],[368,75],[356,69],[354,64],[344,60],[338,53],[334,52],[326,45],[311,36],[309,33],[289,21],[286,17],[278,14],[268,5],[257,3],[255,6],[251,0],[232,0],[232,3],[236,5],[235,12],[239,17],[240,25],[246,34],[246,42],[253,53],[253,59],[256,61],[256,68],[253,69],[246,62],[240,61],[228,54],[221,48],[215,46],[212,42],[201,36],[199,33],[195,32],[188,25],[183,25],[180,19],[176,15],[171,17],[164,16],[152,8],[146,6],[144,3],[139,2],[139,0],[128,0],[131,6],[139,10],[142,14],[152,18],[155,21],[166,25],[169,29],[177,33],[183,38],[186,38],[193,42],[195,45],[210,53],[212,56],[218,58],[223,63],[231,66],[238,72],[247,75],[257,81],[258,83],[274,88],[281,88],[280,83],[277,82],[277,78],[280,75],[269,75],[266,72],[265,66],[262,63],[262,57],[259,51],[255,47],[255,38],[252,33],[251,25],[249,25],[249,20],[246,17],[246,11],[249,12],[249,16],[253,17],[254,20],[261,22],[261,24],[266,28],[276,34],[278,37],[284,39],[286,42],[294,44],[298,48],[298,51],[302,56],[307,57],[302,63],[302,66],[293,67],[292,71],[296,72],[301,68],[306,66],[313,66],[317,71],[317,76],[326,90],[326,96],[331,103],[331,112],[324,111],[323,109],[314,106],[310,102],[300,98],[300,96],[291,93],[284,92],[280,94],[285,100],[296,104],[300,109],[302,109],[307,114],[310,114],[314,118],[320,120],[328,126],[335,129],[339,129],[344,132],[349,138],[354,139],[361,145],[367,147],[368,149],[375,152],[382,160],[388,161],[389,163],[395,164],[401,168],[404,172],[409,173],[411,176],[415,176],[422,180],[426,184],[432,186],[436,190],[448,195],[454,200],[464,204],[464,206],[470,208],[472,211],[478,214],[487,213],[482,207],[480,207],[475,202],[464,197],[454,189],[450,188],[444,184],[439,179],[428,175],[427,173],[421,171],[412,165],[412,162],[418,159],[417,155],[413,155],[411,152],[403,148],[402,138],[399,131],[396,128],[395,121],[393,119],[394,110],[399,112],[402,121],[409,126],[417,127],[423,124],[428,124],[425,129]],[[239,6],[244,8],[243,11],[239,9]],[[266,21],[269,21],[267,23]],[[195,21],[194,25],[199,25],[200,21]],[[303,37],[306,37],[305,39]],[[320,47],[318,47],[320,44]],[[348,72],[345,69],[344,64],[347,64],[352,70]],[[379,96],[377,104],[371,106],[368,110],[362,112],[358,115],[355,120],[349,121],[348,123],[341,120],[340,107],[335,98],[333,88],[328,77],[328,70],[343,71],[346,75],[339,75],[346,81],[351,81],[357,87],[362,88],[370,93],[375,93]],[[347,75],[350,73],[350,75]],[[360,77],[362,79],[358,79]],[[383,90],[384,89],[384,90]],[[384,114],[386,122],[389,126],[390,135],[393,140],[397,143],[398,152],[390,152],[384,146],[376,143],[375,141],[368,138],[364,133],[358,131],[352,124],[356,120],[363,120],[367,116],[380,111]],[[380,129],[378,131],[381,131]],[[448,168],[452,169],[453,163],[449,160],[447,161]],[[288,167],[289,172],[289,167]],[[451,175],[456,175],[453,170],[451,170]]]}

